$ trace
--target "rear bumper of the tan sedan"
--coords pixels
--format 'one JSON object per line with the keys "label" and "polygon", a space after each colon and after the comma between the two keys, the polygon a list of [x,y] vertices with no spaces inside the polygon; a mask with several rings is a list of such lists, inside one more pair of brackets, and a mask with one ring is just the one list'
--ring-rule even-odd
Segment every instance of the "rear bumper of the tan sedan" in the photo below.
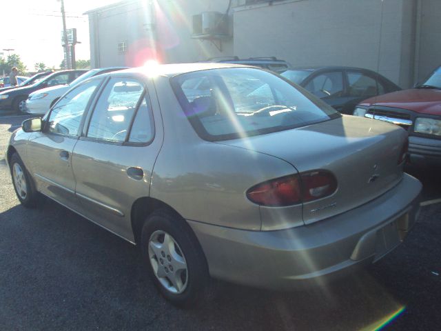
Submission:
{"label": "rear bumper of the tan sedan", "polygon": [[310,225],[249,231],[188,221],[212,277],[261,288],[322,284],[396,247],[418,217],[422,185],[404,178],[377,199]]}

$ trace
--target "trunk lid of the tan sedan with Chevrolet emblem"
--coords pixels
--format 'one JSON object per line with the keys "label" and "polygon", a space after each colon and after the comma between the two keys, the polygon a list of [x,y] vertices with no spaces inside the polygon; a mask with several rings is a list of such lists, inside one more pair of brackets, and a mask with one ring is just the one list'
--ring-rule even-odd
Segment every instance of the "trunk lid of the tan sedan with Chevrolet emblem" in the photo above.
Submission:
{"label": "trunk lid of the tan sedan with Chevrolet emblem", "polygon": [[[334,194],[303,204],[305,224],[358,207],[402,179],[398,159],[407,133],[390,123],[343,115],[304,128],[223,141],[283,159],[298,170],[328,170]],[[293,171],[294,172],[294,171]]]}

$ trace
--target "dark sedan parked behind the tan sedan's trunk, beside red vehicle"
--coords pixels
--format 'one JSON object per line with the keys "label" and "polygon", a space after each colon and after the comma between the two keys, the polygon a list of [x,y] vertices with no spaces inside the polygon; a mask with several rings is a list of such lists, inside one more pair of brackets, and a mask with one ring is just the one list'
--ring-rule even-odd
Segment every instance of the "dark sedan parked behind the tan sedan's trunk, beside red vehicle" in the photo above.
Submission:
{"label": "dark sedan parked behind the tan sedan's trunk, beside red vehicle", "polygon": [[308,67],[278,70],[342,114],[352,114],[360,101],[379,94],[401,90],[386,77],[363,68]]}

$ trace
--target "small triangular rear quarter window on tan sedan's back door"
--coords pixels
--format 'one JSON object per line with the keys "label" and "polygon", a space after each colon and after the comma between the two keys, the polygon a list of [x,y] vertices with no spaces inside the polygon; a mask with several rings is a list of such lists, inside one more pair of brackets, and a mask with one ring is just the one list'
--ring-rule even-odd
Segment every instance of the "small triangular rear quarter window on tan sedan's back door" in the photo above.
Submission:
{"label": "small triangular rear quarter window on tan sedan's back door", "polygon": [[131,143],[148,143],[154,137],[154,125],[152,110],[150,109],[150,102],[147,101],[147,96],[143,99],[141,106],[136,112],[132,129],[130,130],[129,141]]}

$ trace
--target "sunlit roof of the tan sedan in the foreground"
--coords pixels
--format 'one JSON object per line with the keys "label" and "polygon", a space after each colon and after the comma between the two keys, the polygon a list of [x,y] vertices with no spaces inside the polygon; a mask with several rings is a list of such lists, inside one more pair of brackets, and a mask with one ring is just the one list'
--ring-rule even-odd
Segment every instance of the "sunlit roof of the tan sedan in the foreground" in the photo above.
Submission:
{"label": "sunlit roof of the tan sedan in the foreground", "polygon": [[176,63],[176,64],[158,64],[158,65],[147,65],[138,68],[130,68],[126,70],[121,70],[115,74],[123,74],[125,72],[145,74],[146,76],[166,76],[173,77],[178,74],[185,74],[187,72],[210,70],[210,69],[220,69],[220,68],[247,68],[250,66],[243,66],[240,64],[230,64],[230,63],[214,63],[214,62],[198,62],[198,63]]}

